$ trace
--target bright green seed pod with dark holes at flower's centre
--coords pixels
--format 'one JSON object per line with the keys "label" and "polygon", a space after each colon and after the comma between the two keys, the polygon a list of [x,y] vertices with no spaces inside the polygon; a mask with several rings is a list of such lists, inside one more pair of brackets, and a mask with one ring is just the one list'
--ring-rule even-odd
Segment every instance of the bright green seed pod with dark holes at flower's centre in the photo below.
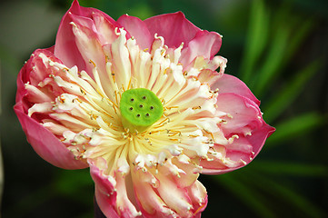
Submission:
{"label": "bright green seed pod with dark holes at flower's centre", "polygon": [[164,112],[161,100],[150,90],[126,90],[121,97],[122,124],[130,132],[142,132],[158,121]]}

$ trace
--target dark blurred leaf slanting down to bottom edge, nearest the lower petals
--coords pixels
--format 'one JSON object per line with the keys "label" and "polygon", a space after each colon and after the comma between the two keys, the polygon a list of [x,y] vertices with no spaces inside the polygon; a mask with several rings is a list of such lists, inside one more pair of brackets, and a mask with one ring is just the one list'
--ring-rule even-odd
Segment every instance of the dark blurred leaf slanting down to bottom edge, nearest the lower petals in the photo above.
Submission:
{"label": "dark blurred leaf slanting down to bottom edge, nearest the lower petals", "polygon": [[231,174],[216,175],[215,181],[221,183],[226,189],[230,190],[236,197],[238,197],[244,204],[246,204],[254,213],[257,213],[260,217],[275,217],[273,211],[265,203],[263,196],[253,190],[251,186],[246,186],[241,183],[239,179],[234,178]]}

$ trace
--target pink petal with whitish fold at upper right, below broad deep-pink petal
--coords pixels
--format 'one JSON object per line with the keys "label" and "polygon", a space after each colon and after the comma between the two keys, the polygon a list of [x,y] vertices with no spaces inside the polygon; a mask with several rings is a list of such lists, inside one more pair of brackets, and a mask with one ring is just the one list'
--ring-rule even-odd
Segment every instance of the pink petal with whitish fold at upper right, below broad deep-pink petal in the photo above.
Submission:
{"label": "pink petal with whitish fold at upper right, below broad deep-pink petal", "polygon": [[201,31],[188,44],[184,44],[180,62],[188,66],[197,56],[212,59],[222,44],[222,36],[215,32]]}

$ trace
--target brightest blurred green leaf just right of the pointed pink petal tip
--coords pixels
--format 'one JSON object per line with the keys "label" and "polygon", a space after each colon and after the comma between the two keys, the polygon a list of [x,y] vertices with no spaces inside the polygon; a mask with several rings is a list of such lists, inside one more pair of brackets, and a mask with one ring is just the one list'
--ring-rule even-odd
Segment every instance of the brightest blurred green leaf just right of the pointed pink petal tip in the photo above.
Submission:
{"label": "brightest blurred green leaf just right of the pointed pink petal tip", "polygon": [[310,112],[289,119],[275,126],[276,131],[266,141],[267,147],[273,147],[280,142],[292,140],[293,137],[318,128],[327,123],[327,116]]}

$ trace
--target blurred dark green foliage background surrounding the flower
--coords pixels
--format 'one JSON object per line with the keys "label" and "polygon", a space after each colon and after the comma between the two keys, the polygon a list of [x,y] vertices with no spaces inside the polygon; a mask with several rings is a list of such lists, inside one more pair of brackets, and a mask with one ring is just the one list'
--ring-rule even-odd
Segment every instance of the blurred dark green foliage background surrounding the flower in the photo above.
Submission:
{"label": "blurred dark green foliage background surrounding the flower", "polygon": [[[2,217],[93,217],[88,170],[46,163],[13,111],[15,79],[36,48],[55,44],[66,0],[0,3]],[[210,217],[328,217],[328,1],[81,0],[117,19],[183,11],[224,35],[226,74],[249,85],[276,127],[259,156],[233,173],[201,175]],[[5,178],[5,183],[3,179]]]}

